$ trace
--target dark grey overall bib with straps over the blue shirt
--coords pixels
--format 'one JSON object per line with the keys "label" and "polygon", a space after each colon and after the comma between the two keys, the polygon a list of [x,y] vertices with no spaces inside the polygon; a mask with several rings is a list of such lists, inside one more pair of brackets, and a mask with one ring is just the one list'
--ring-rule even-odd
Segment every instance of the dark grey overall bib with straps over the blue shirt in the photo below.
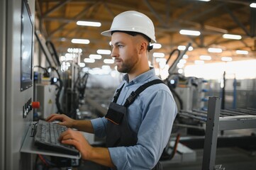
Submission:
{"label": "dark grey overall bib with straps over the blue shirt", "polygon": [[[105,118],[108,119],[106,128],[106,147],[128,147],[136,145],[138,137],[130,130],[126,110],[128,106],[135,101],[138,94],[148,88],[148,86],[160,83],[163,83],[162,80],[155,79],[143,84],[143,86],[140,86],[135,92],[133,91],[130,96],[126,98],[126,103],[123,106],[118,105],[116,101],[118,100],[124,84],[116,91],[116,94],[113,97],[113,102],[108,107],[108,112],[105,116]],[[160,162],[157,162],[153,170],[162,170]]]}

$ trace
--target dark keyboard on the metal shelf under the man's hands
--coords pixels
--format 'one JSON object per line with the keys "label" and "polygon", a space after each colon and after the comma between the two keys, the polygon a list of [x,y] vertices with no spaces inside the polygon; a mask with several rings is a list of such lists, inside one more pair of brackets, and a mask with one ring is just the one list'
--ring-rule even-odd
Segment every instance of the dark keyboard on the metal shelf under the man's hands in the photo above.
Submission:
{"label": "dark keyboard on the metal shelf under the man's hands", "polygon": [[79,155],[79,151],[72,145],[65,145],[59,142],[59,137],[67,127],[57,123],[50,123],[39,120],[35,132],[35,146],[38,149],[46,149],[62,154]]}

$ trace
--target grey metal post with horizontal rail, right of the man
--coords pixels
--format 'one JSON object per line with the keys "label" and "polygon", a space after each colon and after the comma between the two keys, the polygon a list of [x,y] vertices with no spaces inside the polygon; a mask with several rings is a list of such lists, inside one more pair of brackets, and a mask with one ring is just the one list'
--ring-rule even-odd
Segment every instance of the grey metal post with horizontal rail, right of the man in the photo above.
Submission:
{"label": "grey metal post with horizontal rail, right of the man", "polygon": [[210,97],[206,121],[206,136],[202,170],[225,169],[215,166],[218,130],[238,130],[256,128],[256,115],[236,115],[219,117],[221,113],[221,98]]}

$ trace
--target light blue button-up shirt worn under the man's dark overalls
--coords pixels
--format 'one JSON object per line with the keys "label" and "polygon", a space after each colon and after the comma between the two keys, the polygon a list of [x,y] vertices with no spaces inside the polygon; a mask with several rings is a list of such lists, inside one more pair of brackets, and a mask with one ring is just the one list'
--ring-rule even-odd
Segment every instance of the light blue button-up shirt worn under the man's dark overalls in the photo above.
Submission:
{"label": "light blue button-up shirt worn under the man's dark overalls", "polygon": [[[140,74],[130,82],[126,74],[120,86],[125,85],[116,103],[123,105],[132,91],[154,79],[159,79],[155,69]],[[109,147],[111,160],[118,170],[152,169],[167,145],[177,115],[171,91],[165,84],[148,87],[128,106],[127,115],[130,130],[138,135],[138,142],[131,147]],[[96,118],[91,123],[97,137],[106,135],[106,118]]]}

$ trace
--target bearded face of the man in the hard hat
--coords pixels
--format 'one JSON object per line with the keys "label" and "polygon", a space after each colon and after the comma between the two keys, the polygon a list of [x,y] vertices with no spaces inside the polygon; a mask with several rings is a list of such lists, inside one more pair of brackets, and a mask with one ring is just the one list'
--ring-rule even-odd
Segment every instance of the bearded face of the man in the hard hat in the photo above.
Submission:
{"label": "bearded face of the man in the hard hat", "polygon": [[111,38],[112,53],[118,72],[131,73],[135,71],[138,57],[138,43],[135,37],[126,33],[113,33]]}

